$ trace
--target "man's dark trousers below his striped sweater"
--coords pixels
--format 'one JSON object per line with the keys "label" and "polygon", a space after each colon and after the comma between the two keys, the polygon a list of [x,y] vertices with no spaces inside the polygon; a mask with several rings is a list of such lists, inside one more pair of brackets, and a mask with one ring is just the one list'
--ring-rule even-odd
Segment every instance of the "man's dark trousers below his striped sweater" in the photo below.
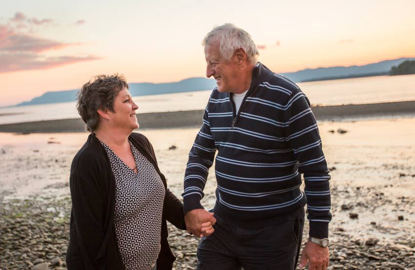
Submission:
{"label": "man's dark trousers below his striped sweater", "polygon": [[303,226],[304,218],[265,228],[243,229],[217,218],[215,232],[200,240],[197,269],[295,270]]}

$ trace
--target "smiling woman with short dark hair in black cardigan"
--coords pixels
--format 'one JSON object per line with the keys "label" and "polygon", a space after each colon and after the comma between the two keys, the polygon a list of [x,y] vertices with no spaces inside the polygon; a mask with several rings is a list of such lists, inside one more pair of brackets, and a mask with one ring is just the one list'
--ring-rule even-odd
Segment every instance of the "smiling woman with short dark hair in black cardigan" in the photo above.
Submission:
{"label": "smiling woman with short dark hair in black cardigan", "polygon": [[[125,78],[85,83],[77,109],[87,130],[70,174],[68,270],[171,270],[166,220],[186,229],[183,205],[167,188],[139,127]],[[211,222],[203,224],[206,235]]]}

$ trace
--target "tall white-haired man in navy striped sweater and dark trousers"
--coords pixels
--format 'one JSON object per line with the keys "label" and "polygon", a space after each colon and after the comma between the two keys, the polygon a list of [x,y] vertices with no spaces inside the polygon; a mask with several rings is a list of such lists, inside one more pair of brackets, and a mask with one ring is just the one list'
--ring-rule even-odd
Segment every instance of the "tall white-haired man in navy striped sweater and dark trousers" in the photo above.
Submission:
{"label": "tall white-haired man in navy striped sweater and dark trousers", "polygon": [[244,30],[217,26],[203,45],[206,76],[218,86],[189,153],[183,198],[187,229],[200,235],[211,214],[200,200],[217,150],[217,222],[199,243],[198,269],[295,269],[307,203],[310,238],[299,267],[308,261],[309,269],[325,270],[330,175],[310,102],[297,85],[257,62]]}

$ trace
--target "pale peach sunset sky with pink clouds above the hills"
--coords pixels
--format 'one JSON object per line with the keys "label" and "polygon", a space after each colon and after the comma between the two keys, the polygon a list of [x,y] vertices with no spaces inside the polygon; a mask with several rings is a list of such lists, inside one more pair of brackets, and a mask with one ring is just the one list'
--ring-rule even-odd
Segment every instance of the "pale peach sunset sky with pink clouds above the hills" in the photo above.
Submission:
{"label": "pale peach sunset sky with pink clouds above the hills", "polygon": [[0,106],[79,89],[206,76],[201,42],[231,22],[278,73],[415,57],[414,0],[0,0]]}

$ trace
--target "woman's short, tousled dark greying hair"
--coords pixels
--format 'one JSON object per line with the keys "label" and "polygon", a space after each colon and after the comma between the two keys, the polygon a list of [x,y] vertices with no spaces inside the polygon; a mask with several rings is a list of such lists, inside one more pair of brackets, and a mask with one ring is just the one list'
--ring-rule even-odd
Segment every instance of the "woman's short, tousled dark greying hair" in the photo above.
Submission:
{"label": "woman's short, tousled dark greying hair", "polygon": [[76,108],[86,129],[93,132],[99,125],[98,109],[114,111],[113,104],[117,94],[128,83],[123,75],[98,75],[83,84],[77,95]]}

